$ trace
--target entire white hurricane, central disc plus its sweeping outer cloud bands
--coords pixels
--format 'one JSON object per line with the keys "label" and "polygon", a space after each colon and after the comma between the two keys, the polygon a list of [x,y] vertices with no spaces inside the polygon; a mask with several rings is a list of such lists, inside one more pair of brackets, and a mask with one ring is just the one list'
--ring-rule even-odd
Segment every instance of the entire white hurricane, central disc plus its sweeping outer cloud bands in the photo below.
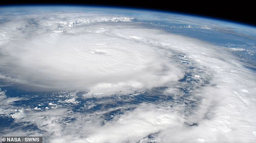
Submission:
{"label": "entire white hurricane, central disc plus its sweeping outer cloud bands", "polygon": [[[50,143],[256,141],[255,73],[222,47],[145,27],[134,16],[39,12],[1,18],[8,18],[0,23],[0,80],[6,85],[69,91],[60,101],[68,104],[91,97],[113,104],[160,87],[161,98],[173,99],[90,113],[54,103],[35,111],[13,105],[28,99],[1,91],[0,113],[38,128],[4,128],[2,136],[44,136]],[[188,75],[194,82],[183,82]],[[181,89],[191,89],[189,96]],[[104,121],[115,110],[122,114]]]}

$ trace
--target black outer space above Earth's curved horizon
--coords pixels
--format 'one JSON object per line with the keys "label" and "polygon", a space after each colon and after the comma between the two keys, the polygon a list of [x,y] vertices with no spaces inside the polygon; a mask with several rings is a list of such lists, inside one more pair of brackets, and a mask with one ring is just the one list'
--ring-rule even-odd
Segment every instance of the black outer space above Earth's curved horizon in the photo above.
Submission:
{"label": "black outer space above Earth's curved horizon", "polygon": [[116,6],[164,10],[185,14],[195,14],[223,20],[239,22],[256,26],[256,6],[253,1],[186,1],[186,0],[2,0],[1,5],[23,4],[63,4],[63,5],[92,5],[92,6]]}

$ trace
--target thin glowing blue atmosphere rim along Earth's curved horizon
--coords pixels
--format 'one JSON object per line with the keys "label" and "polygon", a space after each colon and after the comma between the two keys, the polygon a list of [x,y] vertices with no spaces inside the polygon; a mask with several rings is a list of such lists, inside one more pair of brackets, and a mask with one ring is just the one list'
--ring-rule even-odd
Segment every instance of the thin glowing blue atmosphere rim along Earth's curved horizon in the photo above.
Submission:
{"label": "thin glowing blue atmosphere rim along Earth's curved horizon", "polygon": [[241,26],[247,26],[251,28],[256,28],[256,25],[248,24],[246,22],[238,22],[238,21],[232,21],[232,20],[227,20],[227,19],[222,19],[222,18],[216,18],[216,17],[211,17],[211,16],[203,16],[200,14],[190,14],[190,13],[183,13],[183,12],[175,12],[175,11],[168,11],[168,10],[159,10],[159,9],[154,9],[154,8],[138,8],[138,7],[132,7],[132,6],[108,6],[104,4],[6,4],[6,5],[0,5],[1,7],[19,7],[19,6],[70,6],[70,7],[92,7],[92,8],[114,8],[114,9],[125,9],[125,10],[143,10],[147,12],[160,12],[160,13],[166,13],[166,14],[177,14],[177,15],[183,15],[183,16],[193,16],[197,18],[205,18],[209,20],[217,20],[219,22],[228,22],[236,25],[241,25]]}

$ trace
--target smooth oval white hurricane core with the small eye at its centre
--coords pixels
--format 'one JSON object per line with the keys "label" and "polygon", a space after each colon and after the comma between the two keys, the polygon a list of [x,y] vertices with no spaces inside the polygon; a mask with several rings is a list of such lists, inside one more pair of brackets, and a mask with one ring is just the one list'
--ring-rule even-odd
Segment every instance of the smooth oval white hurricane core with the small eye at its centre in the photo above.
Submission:
{"label": "smooth oval white hurricane core with the small eye at its centre", "polygon": [[[53,20],[55,22],[52,23],[58,23],[58,19]],[[115,20],[111,18],[110,21]],[[42,21],[34,21],[42,29],[49,28],[40,25]],[[129,94],[136,90],[164,86],[183,77],[179,65],[172,64],[168,55],[159,52],[151,43],[143,43],[145,39],[134,41],[133,37],[137,33],[127,35],[131,39],[120,36],[126,34],[122,29],[124,32],[135,32],[135,27],[126,29],[126,26],[120,26],[119,31],[115,31],[116,27],[104,21],[93,27],[67,29],[65,33],[41,33],[40,29],[39,34],[36,29],[35,37],[30,37],[27,28],[31,26],[34,29],[33,25],[19,24],[29,26],[25,27],[23,34],[16,32],[19,38],[13,38],[12,42],[1,48],[3,53],[7,53],[1,57],[1,69],[10,77],[26,81],[27,86],[36,89],[89,90],[88,94],[92,95]],[[81,33],[77,30],[90,32]],[[107,84],[111,85],[111,89],[105,86]]]}

